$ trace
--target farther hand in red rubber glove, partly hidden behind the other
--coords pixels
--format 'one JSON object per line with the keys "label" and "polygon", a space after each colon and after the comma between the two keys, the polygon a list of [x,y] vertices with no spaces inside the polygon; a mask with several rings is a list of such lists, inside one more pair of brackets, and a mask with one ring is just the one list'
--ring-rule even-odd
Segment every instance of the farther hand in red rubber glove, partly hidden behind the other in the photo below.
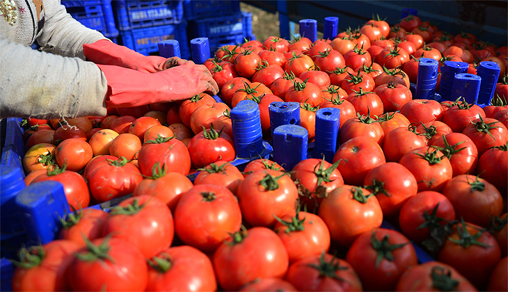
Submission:
{"label": "farther hand in red rubber glove, partly hidden behind the other", "polygon": [[187,62],[178,57],[143,56],[109,40],[97,40],[93,44],[84,44],[83,52],[86,59],[95,64],[116,65],[145,73],[159,72]]}

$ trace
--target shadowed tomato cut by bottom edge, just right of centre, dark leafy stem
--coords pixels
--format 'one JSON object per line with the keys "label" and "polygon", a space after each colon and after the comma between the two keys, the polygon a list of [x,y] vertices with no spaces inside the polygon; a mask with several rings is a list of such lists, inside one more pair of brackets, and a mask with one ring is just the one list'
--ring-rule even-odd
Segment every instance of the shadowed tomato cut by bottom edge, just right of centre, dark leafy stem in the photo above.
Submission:
{"label": "shadowed tomato cut by bottom edge, just right of centre, dark leafy stem", "polygon": [[285,279],[299,291],[363,291],[351,264],[324,252],[292,263]]}

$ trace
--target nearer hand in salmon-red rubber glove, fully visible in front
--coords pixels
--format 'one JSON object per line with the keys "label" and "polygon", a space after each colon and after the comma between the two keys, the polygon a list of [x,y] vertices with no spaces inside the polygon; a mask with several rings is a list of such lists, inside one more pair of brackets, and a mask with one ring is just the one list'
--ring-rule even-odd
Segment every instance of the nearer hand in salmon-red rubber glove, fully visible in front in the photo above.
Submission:
{"label": "nearer hand in salmon-red rubber glove, fully visible in front", "polygon": [[189,99],[201,92],[210,95],[219,92],[207,67],[192,61],[153,74],[115,65],[97,66],[108,81],[106,107],[143,106]]}

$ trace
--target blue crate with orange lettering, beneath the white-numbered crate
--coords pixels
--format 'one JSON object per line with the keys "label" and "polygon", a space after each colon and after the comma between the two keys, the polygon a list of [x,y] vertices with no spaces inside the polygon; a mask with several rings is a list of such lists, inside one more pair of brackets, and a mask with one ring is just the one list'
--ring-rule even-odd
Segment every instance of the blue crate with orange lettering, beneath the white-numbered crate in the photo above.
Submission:
{"label": "blue crate with orange lettering, beneath the white-numbered crate", "polygon": [[159,42],[178,40],[180,42],[180,54],[182,58],[188,59],[191,57],[191,51],[187,42],[186,22],[120,31],[119,38],[121,44],[125,47],[134,49],[134,51],[145,56],[157,53],[159,51]]}

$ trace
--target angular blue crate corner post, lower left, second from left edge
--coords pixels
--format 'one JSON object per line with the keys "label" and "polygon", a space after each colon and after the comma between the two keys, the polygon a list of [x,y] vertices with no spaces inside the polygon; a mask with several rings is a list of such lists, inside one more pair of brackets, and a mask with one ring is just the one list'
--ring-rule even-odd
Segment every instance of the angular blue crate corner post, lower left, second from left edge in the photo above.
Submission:
{"label": "angular blue crate corner post, lower left, second from left edge", "polygon": [[61,228],[58,216],[70,211],[63,184],[40,181],[27,186],[16,197],[16,205],[26,228],[28,245],[53,241]]}

